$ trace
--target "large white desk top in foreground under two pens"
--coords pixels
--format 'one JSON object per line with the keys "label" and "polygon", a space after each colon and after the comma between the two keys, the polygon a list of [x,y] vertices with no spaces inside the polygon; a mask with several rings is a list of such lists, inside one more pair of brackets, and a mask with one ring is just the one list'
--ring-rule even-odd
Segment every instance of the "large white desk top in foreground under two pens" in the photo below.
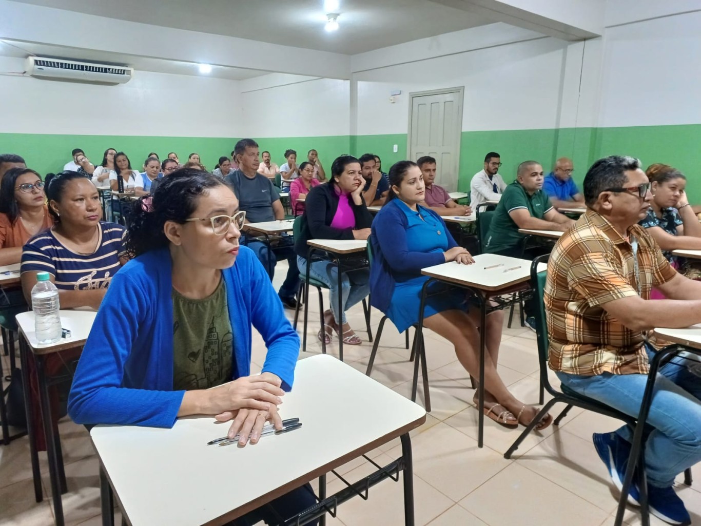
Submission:
{"label": "large white desk top in foreground under two pens", "polygon": [[130,524],[222,525],[426,420],[423,407],[332,356],[300,360],[295,376],[280,416],[299,417],[301,429],[257,445],[207,445],[229,429],[212,417],[93,428]]}

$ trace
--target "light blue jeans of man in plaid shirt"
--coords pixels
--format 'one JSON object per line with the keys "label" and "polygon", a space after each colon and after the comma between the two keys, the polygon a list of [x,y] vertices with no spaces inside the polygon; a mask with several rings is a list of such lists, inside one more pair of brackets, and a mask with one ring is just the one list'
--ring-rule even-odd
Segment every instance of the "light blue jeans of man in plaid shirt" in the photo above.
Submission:
{"label": "light blue jeans of man in plaid shirt", "polygon": [[[648,357],[653,350],[646,346]],[[697,362],[675,357],[660,367],[648,414],[650,429],[645,445],[648,484],[670,487],[674,478],[701,461],[701,377],[689,370]],[[620,412],[637,417],[643,399],[647,375],[595,376],[568,375],[557,371],[560,381],[576,393],[605,403]],[[616,431],[627,442],[632,430],[623,426]]]}

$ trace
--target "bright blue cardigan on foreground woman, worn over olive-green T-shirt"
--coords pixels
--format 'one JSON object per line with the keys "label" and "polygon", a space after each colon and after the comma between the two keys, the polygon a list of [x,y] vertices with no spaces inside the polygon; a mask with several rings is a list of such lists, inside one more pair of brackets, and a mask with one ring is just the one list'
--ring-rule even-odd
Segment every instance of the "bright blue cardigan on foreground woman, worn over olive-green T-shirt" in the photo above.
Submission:
{"label": "bright blue cardigan on foreground woman, worn over olive-green T-shirt", "polygon": [[[173,391],[173,308],[168,249],[152,250],[112,278],[68,398],[77,424],[172,427],[185,391]],[[299,336],[263,266],[246,247],[222,270],[233,330],[233,379],[250,375],[251,325],[265,340],[263,372],[290,391]]]}

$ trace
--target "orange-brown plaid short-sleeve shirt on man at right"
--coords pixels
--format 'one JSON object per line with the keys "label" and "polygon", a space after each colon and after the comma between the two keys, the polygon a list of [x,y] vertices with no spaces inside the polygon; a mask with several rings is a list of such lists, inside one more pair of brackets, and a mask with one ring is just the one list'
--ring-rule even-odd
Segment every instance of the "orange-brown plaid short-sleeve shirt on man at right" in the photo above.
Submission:
{"label": "orange-brown plaid short-sleeve shirt on man at right", "polygon": [[633,238],[643,299],[650,299],[651,288],[667,283],[676,271],[643,227],[635,224],[627,234],[622,237],[605,217],[587,210],[555,243],[545,283],[551,369],[585,376],[647,374],[643,335],[602,305],[638,295]]}

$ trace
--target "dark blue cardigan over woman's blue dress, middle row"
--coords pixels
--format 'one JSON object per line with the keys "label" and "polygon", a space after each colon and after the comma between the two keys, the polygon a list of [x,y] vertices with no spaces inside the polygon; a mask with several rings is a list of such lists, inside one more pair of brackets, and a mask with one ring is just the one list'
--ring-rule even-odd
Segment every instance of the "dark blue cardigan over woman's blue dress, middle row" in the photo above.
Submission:
{"label": "dark blue cardigan over woman's blue dress, middle row", "polygon": [[[409,252],[407,248],[407,214],[410,210],[401,199],[394,198],[384,205],[372,222],[370,247],[372,264],[370,265],[370,303],[382,312],[389,309],[395,288],[395,272],[421,276],[421,269],[445,263],[440,252]],[[419,206],[423,215],[433,215],[443,224],[448,240],[448,248],[458,246],[447,228],[443,218],[430,208]]]}

